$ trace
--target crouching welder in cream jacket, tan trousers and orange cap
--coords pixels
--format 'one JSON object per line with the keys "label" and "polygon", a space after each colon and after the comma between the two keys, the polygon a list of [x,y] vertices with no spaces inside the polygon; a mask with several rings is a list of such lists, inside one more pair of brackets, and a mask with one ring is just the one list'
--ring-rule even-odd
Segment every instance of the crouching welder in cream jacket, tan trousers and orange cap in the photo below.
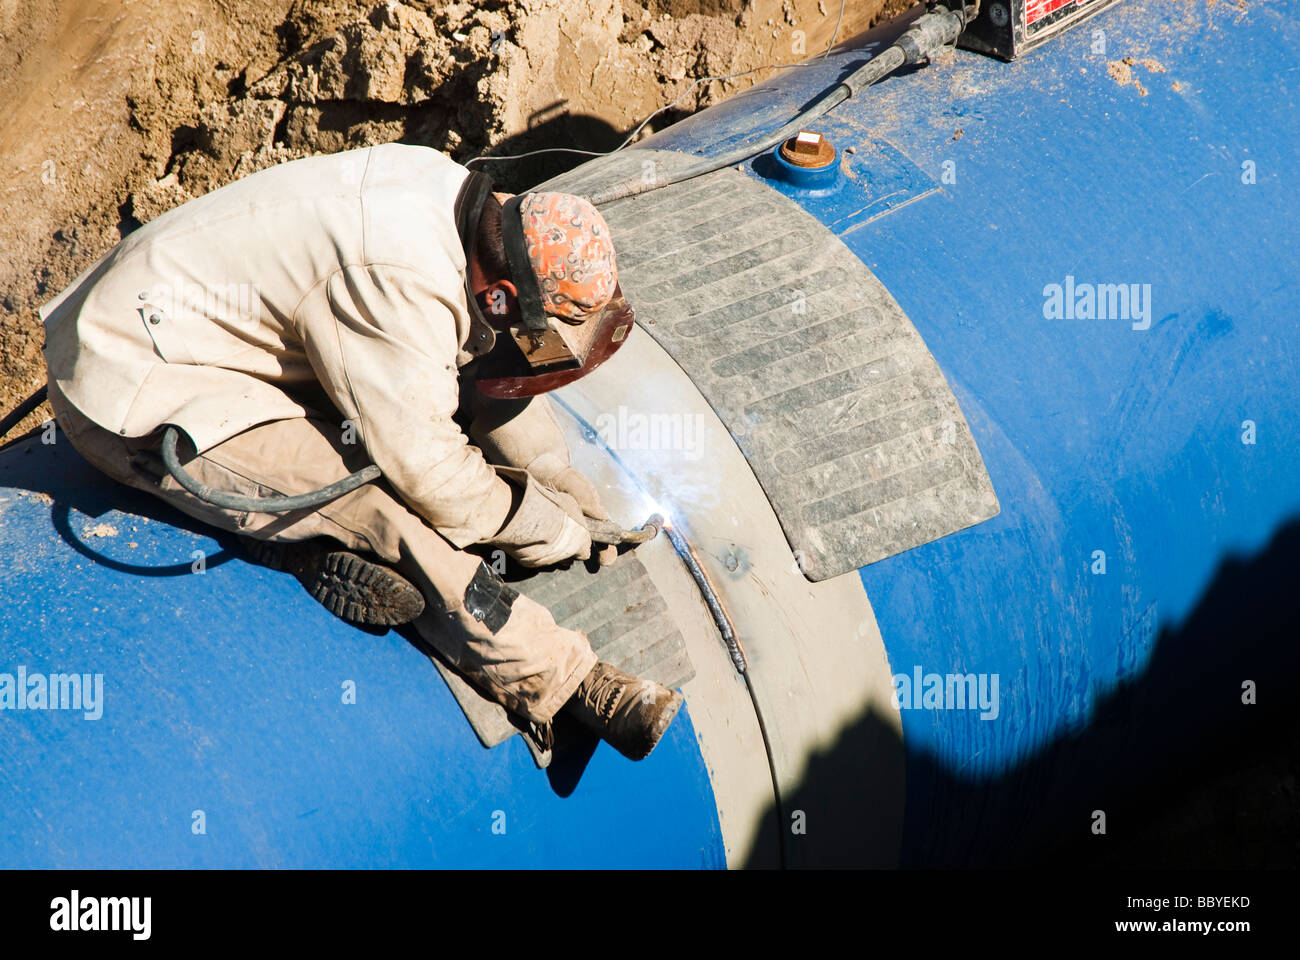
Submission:
{"label": "crouching welder in cream jacket, tan trousers and orange cap", "polygon": [[[127,235],[42,317],[51,405],[104,473],[344,619],[413,622],[542,747],[560,709],[634,760],[658,743],[681,695],[598,661],[480,555],[581,562],[608,520],[541,395],[632,327],[585,199],[497,194],[415,146],[295,160]],[[368,463],[328,502],[257,506]]]}

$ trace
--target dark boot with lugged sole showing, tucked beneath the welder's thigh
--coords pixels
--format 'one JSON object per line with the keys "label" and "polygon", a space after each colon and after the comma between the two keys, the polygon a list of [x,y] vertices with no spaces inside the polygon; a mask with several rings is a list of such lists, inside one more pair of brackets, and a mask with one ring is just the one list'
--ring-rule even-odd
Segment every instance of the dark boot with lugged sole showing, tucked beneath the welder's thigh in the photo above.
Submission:
{"label": "dark boot with lugged sole showing, tucked beneath the welder's thigh", "polygon": [[424,613],[424,596],[410,580],[350,550],[311,540],[280,544],[242,536],[239,542],[257,563],[296,576],[326,610],[350,623],[395,627]]}

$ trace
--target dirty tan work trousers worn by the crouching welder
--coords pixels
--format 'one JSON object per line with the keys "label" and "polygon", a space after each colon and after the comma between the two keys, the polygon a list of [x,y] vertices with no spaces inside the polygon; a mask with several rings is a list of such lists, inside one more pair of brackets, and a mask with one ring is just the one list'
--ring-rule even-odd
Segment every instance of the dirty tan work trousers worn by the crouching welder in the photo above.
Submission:
{"label": "dirty tan work trousers worn by the crouching welder", "polygon": [[[459,550],[413,514],[382,480],[315,510],[256,514],[207,503],[176,480],[153,483],[133,467],[156,454],[160,434],[120,437],[83,416],[51,384],[49,405],[68,440],[95,467],[120,483],[152,493],[221,529],[260,540],[329,536],[351,550],[377,554],[424,594],[420,636],[442,653],[484,696],[511,713],[546,723],[595,666],[586,636],[555,623],[528,597],[514,601],[497,632],[465,610],[465,588],[482,561]],[[365,466],[359,445],[346,445],[325,419],[276,420],[254,427],[182,462],[212,489],[244,497],[292,496],[320,489]]]}

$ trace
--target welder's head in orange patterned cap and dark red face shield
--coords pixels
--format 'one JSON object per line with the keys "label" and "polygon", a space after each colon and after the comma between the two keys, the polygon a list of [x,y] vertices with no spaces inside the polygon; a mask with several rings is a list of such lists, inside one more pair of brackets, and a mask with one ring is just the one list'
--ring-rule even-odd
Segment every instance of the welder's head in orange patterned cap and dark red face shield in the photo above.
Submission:
{"label": "welder's head in orange patterned cap and dark red face shield", "polygon": [[588,200],[506,196],[500,221],[510,277],[469,291],[471,310],[498,334],[476,380],[486,397],[534,397],[612,356],[632,332],[633,313],[619,287],[610,226]]}

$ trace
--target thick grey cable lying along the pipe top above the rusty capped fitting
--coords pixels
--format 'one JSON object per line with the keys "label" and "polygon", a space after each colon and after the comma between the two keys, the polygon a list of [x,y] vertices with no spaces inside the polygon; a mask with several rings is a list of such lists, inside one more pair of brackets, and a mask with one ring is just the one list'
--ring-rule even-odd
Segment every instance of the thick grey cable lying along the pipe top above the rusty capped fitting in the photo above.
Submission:
{"label": "thick grey cable lying along the pipe top above the rusty capped fitting", "polygon": [[844,78],[836,87],[832,87],[819,100],[807,109],[801,111],[793,120],[781,126],[775,133],[760,140],[750,142],[734,147],[725,153],[699,163],[684,167],[676,173],[666,177],[655,177],[646,182],[642,177],[633,177],[611,183],[602,190],[588,195],[588,199],[601,206],[621,200],[625,196],[637,196],[651,190],[681,183],[686,180],[702,177],[706,173],[720,170],[724,167],[733,167],[748,160],[755,153],[762,153],[772,147],[784,143],[803,130],[809,121],[816,120],[822,114],[840,105],[850,96],[870,87],[872,83],[884,79],[900,66],[927,61],[939,53],[945,46],[957,42],[962,33],[979,12],[979,4],[962,7],[959,10],[950,9],[942,4],[935,4],[922,16],[913,21],[904,34],[878,56],[868,60],[857,70]]}

